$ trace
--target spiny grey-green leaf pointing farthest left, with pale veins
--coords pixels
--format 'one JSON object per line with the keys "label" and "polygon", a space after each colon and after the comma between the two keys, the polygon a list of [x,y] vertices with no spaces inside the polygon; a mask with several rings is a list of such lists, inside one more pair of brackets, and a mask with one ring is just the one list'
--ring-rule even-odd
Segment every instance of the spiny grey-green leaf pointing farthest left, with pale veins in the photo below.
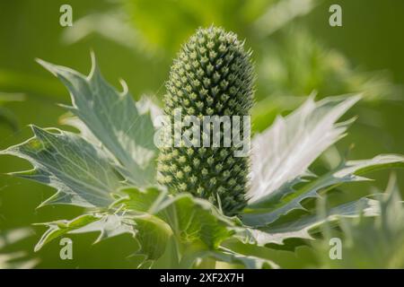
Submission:
{"label": "spiny grey-green leaf pointing farthest left, with pale veins", "polygon": [[101,150],[78,135],[50,133],[31,126],[34,137],[1,153],[30,161],[33,170],[13,173],[57,188],[43,204],[108,206],[110,196],[121,187],[120,178]]}

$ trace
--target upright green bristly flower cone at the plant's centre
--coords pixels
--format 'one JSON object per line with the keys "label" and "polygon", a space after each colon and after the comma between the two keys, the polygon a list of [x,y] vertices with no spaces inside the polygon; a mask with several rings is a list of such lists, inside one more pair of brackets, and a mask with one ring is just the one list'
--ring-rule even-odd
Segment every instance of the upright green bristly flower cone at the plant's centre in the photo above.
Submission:
{"label": "upright green bristly flower cone at the plant's centre", "polygon": [[[252,69],[250,52],[244,51],[234,33],[215,27],[198,30],[171,66],[164,96],[165,115],[172,122],[178,109],[183,118],[250,116]],[[204,138],[202,127],[200,135]],[[173,192],[206,198],[225,214],[234,215],[246,204],[250,160],[234,156],[240,148],[221,143],[219,147],[162,148],[159,181]]]}

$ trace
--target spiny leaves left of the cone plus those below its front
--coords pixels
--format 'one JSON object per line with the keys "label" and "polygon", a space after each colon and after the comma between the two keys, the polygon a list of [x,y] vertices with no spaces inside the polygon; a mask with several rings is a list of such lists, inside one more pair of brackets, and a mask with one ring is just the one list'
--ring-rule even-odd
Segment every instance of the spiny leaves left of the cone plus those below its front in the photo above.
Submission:
{"label": "spiny leaves left of the cone plus those below its front", "polygon": [[[154,181],[149,167],[154,166],[155,148],[147,144],[153,143],[154,135],[149,111],[159,111],[149,100],[136,103],[127,91],[115,91],[95,67],[89,77],[84,77],[71,69],[40,62],[69,88],[74,105],[67,109],[75,117],[64,120],[81,134],[32,126],[34,137],[1,153],[22,157],[34,166],[14,175],[57,188],[57,194],[43,204],[92,209],[72,220],[41,223],[48,230],[35,250],[67,233],[99,232],[96,241],[128,233],[136,238],[137,254],[145,262],[162,257],[169,238],[174,237],[181,254],[176,263],[179,266],[191,267],[199,257],[207,256],[244,266],[276,266],[268,260],[221,250],[220,244],[232,236],[233,227],[240,222],[225,217],[209,202],[188,194],[171,196],[158,188],[127,188]],[[100,109],[92,109],[94,105]],[[123,117],[127,113],[130,117]],[[145,178],[151,180],[138,180]]]}

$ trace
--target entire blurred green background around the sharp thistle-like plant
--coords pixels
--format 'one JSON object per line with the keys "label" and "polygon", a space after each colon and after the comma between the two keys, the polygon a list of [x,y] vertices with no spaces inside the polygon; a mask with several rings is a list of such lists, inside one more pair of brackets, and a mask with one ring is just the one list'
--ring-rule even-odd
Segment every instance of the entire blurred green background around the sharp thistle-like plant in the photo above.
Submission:
{"label": "entire blurred green background around the sharp thistle-like plant", "polygon": [[[59,8],[73,8],[73,27],[61,27]],[[342,7],[342,27],[329,26],[329,6]],[[125,79],[136,99],[164,93],[164,81],[180,44],[199,26],[221,25],[246,39],[257,72],[255,131],[287,114],[304,97],[364,92],[349,112],[357,115],[349,135],[330,150],[330,166],[349,149],[350,159],[378,153],[404,153],[404,2],[400,0],[116,0],[0,2],[0,149],[31,137],[29,124],[60,126],[68,92],[34,59],[66,65],[88,74],[93,50],[107,80],[119,88]],[[66,127],[64,127],[66,128]],[[355,147],[350,149],[352,143]],[[338,152],[337,152],[338,151]],[[53,194],[49,187],[13,178],[7,172],[31,169],[26,161],[0,157],[0,230],[72,218],[77,207],[37,206]],[[403,171],[398,181],[404,190]],[[383,189],[388,173],[376,182],[346,187],[347,198]],[[401,190],[401,194],[403,194]],[[72,236],[74,260],[59,258],[58,241],[33,254],[40,227],[10,246],[39,259],[38,267],[132,267],[136,243],[129,237],[92,245],[96,234]],[[307,267],[315,259],[309,248],[298,256],[268,251],[289,267]]]}

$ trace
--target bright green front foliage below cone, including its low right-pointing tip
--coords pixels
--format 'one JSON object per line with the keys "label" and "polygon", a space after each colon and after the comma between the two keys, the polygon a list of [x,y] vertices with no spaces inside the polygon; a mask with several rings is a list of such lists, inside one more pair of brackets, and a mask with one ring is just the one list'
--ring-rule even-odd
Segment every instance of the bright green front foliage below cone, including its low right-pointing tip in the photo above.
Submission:
{"label": "bright green front foliage below cone, including its low right-pointing tip", "polygon": [[[181,254],[176,263],[180,267],[191,267],[203,258],[214,258],[248,268],[277,267],[268,259],[244,256],[220,247],[225,239],[231,238],[233,232],[241,228],[240,222],[219,213],[214,205],[204,199],[189,194],[170,196],[154,188],[145,192],[128,188],[123,192],[128,197],[117,204],[124,204],[126,216],[134,212],[147,213],[167,222]],[[160,247],[165,248],[168,243],[167,240],[160,241]],[[154,248],[158,246],[154,245]]]}

